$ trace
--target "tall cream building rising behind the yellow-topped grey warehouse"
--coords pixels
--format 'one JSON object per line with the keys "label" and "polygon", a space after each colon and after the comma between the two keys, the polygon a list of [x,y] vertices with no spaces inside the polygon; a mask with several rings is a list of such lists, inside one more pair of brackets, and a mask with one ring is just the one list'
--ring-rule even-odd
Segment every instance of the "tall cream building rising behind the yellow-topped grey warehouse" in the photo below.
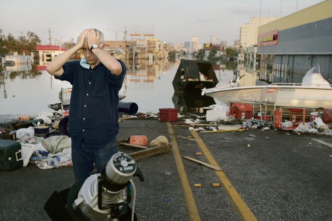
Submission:
{"label": "tall cream building rising behind the yellow-topped grey warehouse", "polygon": [[279,19],[278,17],[252,17],[250,23],[240,27],[240,47],[247,48],[257,44],[258,27]]}

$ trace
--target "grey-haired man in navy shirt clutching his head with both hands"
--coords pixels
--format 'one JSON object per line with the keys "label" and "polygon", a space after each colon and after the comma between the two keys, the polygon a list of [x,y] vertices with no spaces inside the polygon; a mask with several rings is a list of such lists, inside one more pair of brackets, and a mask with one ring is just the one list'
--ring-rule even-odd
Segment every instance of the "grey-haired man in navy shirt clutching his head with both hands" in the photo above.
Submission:
{"label": "grey-haired man in navy shirt clutching his head with both hands", "polygon": [[[86,29],[77,44],[59,54],[46,70],[55,79],[72,85],[69,113],[71,155],[76,181],[100,173],[117,153],[118,92],[126,73],[125,64],[104,51],[104,34]],[[82,49],[84,58],[67,62]]]}

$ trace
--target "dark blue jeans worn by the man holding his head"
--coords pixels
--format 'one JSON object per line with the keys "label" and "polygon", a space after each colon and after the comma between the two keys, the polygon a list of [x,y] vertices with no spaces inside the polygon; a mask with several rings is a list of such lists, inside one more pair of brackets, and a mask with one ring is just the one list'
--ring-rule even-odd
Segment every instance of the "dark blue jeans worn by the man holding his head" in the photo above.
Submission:
{"label": "dark blue jeans worn by the man holding his head", "polygon": [[99,149],[89,148],[82,139],[81,143],[71,144],[71,158],[74,167],[76,181],[84,182],[93,174],[95,163],[98,173],[101,173],[111,157],[117,153],[117,140],[114,137],[111,142]]}

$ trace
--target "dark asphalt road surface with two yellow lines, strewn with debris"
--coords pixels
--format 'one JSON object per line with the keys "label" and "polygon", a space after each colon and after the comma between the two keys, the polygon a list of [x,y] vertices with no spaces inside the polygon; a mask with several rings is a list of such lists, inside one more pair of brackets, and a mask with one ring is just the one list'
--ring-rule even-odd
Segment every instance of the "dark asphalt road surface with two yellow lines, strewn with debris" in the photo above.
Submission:
{"label": "dark asphalt road surface with two yellow lines, strewn with debris", "polygon": [[[119,139],[147,135],[151,141],[165,135],[173,146],[166,154],[137,161],[145,177],[143,182],[133,179],[138,220],[332,220],[332,148],[311,139],[332,144],[331,136],[287,133],[196,133],[156,120],[122,122]],[[53,191],[73,184],[71,167],[40,170],[28,165],[0,171],[0,220],[50,220],[43,209],[45,202]]]}

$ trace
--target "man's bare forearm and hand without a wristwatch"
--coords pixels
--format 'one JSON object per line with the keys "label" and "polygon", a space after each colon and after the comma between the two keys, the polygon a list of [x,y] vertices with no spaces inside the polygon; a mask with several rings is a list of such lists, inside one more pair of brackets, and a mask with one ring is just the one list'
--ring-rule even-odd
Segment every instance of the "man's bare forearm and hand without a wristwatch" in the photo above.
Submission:
{"label": "man's bare forearm and hand without a wristwatch", "polygon": [[52,60],[52,62],[46,67],[47,72],[56,77],[61,77],[61,75],[63,74],[62,66],[69,60],[69,58],[71,58],[71,56],[73,56],[74,53],[76,53],[79,49],[83,47],[84,37],[88,33],[88,31],[89,30],[84,30],[78,36],[77,44],[75,46],[56,56]]}

